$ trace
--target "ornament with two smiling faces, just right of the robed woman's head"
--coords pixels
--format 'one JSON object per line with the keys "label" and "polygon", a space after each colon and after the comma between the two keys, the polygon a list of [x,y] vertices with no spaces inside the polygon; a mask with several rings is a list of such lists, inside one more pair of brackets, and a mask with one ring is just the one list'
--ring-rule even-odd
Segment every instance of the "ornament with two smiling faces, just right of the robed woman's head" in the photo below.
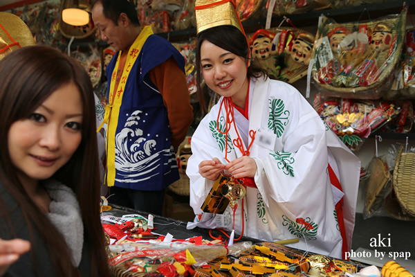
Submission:
{"label": "ornament with two smiling faces, just right of the robed woman's head", "polygon": [[314,35],[291,27],[259,29],[249,39],[252,57],[270,78],[293,83],[307,75]]}

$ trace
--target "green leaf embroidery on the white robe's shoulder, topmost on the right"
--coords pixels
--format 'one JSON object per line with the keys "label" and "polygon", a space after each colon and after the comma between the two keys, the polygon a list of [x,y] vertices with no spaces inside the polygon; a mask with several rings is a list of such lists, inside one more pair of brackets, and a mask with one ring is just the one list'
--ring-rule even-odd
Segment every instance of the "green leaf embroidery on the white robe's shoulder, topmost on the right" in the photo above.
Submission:
{"label": "green leaf embroidery on the white robe's shoulder, topmost on the right", "polygon": [[284,133],[285,126],[288,124],[290,111],[284,110],[284,101],[281,99],[269,99],[268,102],[270,109],[268,128],[273,130],[274,134],[277,134],[277,137],[279,138],[282,136],[282,133]]}

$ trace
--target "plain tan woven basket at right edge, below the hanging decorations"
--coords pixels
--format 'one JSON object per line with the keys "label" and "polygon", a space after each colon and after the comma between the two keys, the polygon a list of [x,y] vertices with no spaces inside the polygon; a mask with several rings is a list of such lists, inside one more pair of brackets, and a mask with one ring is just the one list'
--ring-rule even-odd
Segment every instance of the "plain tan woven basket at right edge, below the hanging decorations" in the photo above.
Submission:
{"label": "plain tan woven basket at right edge, below the hanging decorations", "polygon": [[415,217],[415,153],[405,153],[400,148],[392,184],[403,211]]}

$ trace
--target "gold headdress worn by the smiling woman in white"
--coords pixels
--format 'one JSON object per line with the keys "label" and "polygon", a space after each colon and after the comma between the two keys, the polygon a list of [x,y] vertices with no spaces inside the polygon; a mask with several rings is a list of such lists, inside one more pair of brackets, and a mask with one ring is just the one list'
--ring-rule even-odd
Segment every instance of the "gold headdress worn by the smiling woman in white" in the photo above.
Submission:
{"label": "gold headdress worn by the smiling woman in white", "polygon": [[208,28],[232,25],[245,35],[233,0],[196,0],[194,10],[198,34]]}

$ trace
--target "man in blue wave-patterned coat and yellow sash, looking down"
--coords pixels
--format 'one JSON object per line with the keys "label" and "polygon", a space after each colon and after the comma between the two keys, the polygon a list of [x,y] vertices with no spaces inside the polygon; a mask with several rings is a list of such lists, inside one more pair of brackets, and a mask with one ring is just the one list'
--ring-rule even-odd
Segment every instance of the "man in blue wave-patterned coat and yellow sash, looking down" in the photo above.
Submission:
{"label": "man in blue wave-patterned coat and yellow sash, looking down", "polygon": [[193,120],[182,55],[127,0],[98,0],[92,18],[116,51],[107,66],[109,202],[162,214],[165,188],[179,179],[175,150]]}

